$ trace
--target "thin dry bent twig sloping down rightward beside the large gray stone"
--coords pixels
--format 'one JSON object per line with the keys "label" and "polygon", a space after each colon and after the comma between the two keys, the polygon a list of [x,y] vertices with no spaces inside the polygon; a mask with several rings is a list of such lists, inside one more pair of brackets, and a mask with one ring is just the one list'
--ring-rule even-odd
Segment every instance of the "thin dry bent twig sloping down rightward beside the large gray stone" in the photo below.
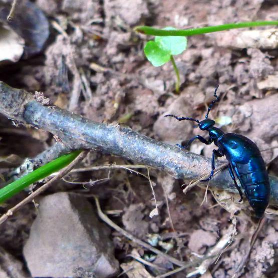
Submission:
{"label": "thin dry bent twig sloping down rightward beside the large gray stone", "polygon": [[130,240],[136,242],[137,244],[143,246],[144,248],[158,254],[161,255],[163,257],[165,257],[166,259],[168,259],[169,261],[171,261],[172,263],[178,265],[178,266],[183,266],[185,263],[183,261],[180,261],[172,256],[169,256],[165,253],[163,253],[162,251],[154,248],[153,246],[151,246],[150,244],[142,241],[141,239],[136,238],[135,236],[133,236],[131,233],[125,231],[124,229],[122,229],[121,227],[119,227],[118,225],[116,225],[113,221],[111,221],[101,210],[100,207],[100,203],[99,203],[99,199],[97,196],[93,195],[93,197],[95,198],[95,202],[96,202],[96,206],[97,206],[97,212],[98,212],[98,216],[105,222],[107,223],[109,226],[111,226],[113,229],[115,229],[116,231],[120,232],[121,234],[123,234],[124,236],[126,236],[127,238],[129,238]]}

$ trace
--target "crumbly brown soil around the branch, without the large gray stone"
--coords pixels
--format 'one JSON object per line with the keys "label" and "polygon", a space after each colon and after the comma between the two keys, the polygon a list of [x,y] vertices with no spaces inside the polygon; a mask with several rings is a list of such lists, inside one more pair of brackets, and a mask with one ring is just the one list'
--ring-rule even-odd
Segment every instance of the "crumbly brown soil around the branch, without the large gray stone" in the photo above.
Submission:
{"label": "crumbly brown soil around the branch, without the large gray stone", "polygon": [[[228,47],[233,43],[230,41],[232,35],[243,30],[221,32],[217,36],[190,37],[187,50],[176,57],[182,81],[181,92],[176,94],[172,65],[167,63],[159,68],[153,67],[143,54],[143,46],[148,38],[132,32],[134,26],[144,24],[188,28],[275,20],[278,15],[276,1],[37,0],[36,3],[50,21],[55,21],[51,26],[51,37],[40,55],[0,67],[0,80],[10,86],[30,92],[42,91],[52,103],[94,121],[120,122],[157,140],[180,144],[200,131],[193,129],[191,122],[165,119],[164,113],[202,119],[219,84],[221,102],[211,111],[210,117],[230,117],[232,124],[223,129],[248,136],[261,150],[278,145],[275,112],[278,104],[271,100],[278,89],[277,49]],[[265,29],[267,27],[262,28]],[[62,82],[63,86],[58,82],[62,56],[69,77],[68,81]],[[254,99],[264,99],[263,105]],[[257,111],[261,114],[255,113]],[[252,114],[256,118],[252,118]],[[32,157],[53,143],[51,134],[15,128],[3,116],[0,126],[1,157],[9,154]],[[211,156],[213,148],[215,146],[195,143],[191,151]],[[262,155],[269,172],[277,174],[277,149],[263,152]],[[86,165],[107,163],[131,162],[101,153],[92,153],[85,161]],[[0,165],[0,168],[0,173],[9,170],[7,166]],[[146,169],[139,169],[139,172],[147,174]],[[108,180],[99,181],[108,176]],[[231,226],[230,212],[234,211],[231,203],[224,201],[221,203],[224,206],[220,206],[210,192],[202,203],[203,189],[195,187],[184,195],[182,180],[174,180],[155,170],[150,170],[150,179],[156,184],[154,191],[159,215],[153,218],[149,217],[154,209],[153,195],[145,177],[117,169],[109,174],[108,170],[74,174],[73,178],[75,181],[96,182],[92,183],[93,186],[86,185],[87,189],[84,189],[82,185],[68,185],[61,181],[48,193],[78,190],[84,194],[98,194],[103,210],[119,210],[116,216],[109,215],[114,222],[148,242],[159,236],[157,248],[168,248],[168,254],[184,261],[207,254]],[[19,194],[9,205],[16,204],[25,195]],[[216,198],[220,199],[220,195],[215,193]],[[93,199],[90,200],[94,204]],[[0,212],[6,211],[6,208],[0,209]],[[220,255],[216,264],[210,263],[202,277],[209,277],[210,274],[219,278],[232,276],[244,257],[255,227],[246,211],[248,214],[248,209],[238,214],[234,242]],[[1,246],[22,261],[23,245],[35,215],[34,204],[29,204],[0,226]],[[274,214],[267,217],[242,277],[277,277],[278,220]],[[118,232],[113,232],[112,238],[120,263],[132,261],[126,254],[133,249],[137,249],[145,259],[150,255]],[[157,263],[168,267],[168,262],[160,260]],[[150,275],[158,274],[153,268],[146,269]],[[170,270],[171,265],[168,267]],[[185,277],[193,270],[191,267],[172,277]],[[125,275],[128,276],[128,273]]]}

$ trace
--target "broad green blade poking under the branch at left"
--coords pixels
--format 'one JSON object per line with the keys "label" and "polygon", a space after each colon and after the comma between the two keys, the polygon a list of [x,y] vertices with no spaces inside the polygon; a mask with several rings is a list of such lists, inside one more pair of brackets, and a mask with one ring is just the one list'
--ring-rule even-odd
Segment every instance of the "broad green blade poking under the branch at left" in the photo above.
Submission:
{"label": "broad green blade poking under the branch at left", "polygon": [[46,165],[36,169],[32,173],[15,180],[14,182],[8,184],[7,186],[0,189],[0,203],[5,202],[10,199],[20,191],[22,191],[27,186],[33,184],[36,181],[39,181],[52,173],[55,173],[62,168],[70,164],[79,154],[80,150],[71,152],[60,156],[59,158],[47,163]]}

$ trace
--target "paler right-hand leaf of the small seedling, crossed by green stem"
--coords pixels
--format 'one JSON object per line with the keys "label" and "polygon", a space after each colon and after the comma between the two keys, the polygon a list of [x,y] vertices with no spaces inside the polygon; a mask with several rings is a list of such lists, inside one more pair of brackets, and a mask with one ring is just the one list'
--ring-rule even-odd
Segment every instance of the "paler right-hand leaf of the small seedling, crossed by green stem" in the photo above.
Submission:
{"label": "paler right-hand leaf of the small seedling, crossed by green stem", "polygon": [[[163,30],[176,30],[173,27],[166,27]],[[169,52],[170,55],[181,54],[187,46],[187,39],[185,37],[155,37],[155,43],[160,49]]]}

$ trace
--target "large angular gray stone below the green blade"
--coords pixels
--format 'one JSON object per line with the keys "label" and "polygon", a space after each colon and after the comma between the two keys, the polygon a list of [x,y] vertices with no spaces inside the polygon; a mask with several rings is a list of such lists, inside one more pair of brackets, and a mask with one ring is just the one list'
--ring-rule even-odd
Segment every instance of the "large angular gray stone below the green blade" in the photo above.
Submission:
{"label": "large angular gray stone below the green blade", "polygon": [[24,256],[36,277],[76,277],[82,269],[86,276],[102,278],[119,269],[109,229],[98,221],[87,199],[73,193],[40,201]]}

